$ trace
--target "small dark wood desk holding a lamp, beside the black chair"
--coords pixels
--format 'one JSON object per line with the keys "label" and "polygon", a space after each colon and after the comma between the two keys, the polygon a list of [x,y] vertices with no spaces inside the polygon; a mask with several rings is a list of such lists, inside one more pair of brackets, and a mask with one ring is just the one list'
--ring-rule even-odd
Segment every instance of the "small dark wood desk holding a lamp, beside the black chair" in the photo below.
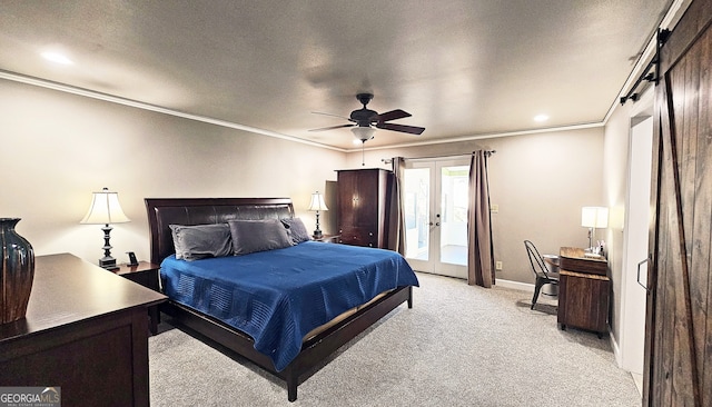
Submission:
{"label": "small dark wood desk holding a lamp, beside the black chair", "polygon": [[561,329],[567,326],[592,330],[599,338],[607,331],[611,280],[605,258],[586,257],[580,248],[558,252],[558,314]]}

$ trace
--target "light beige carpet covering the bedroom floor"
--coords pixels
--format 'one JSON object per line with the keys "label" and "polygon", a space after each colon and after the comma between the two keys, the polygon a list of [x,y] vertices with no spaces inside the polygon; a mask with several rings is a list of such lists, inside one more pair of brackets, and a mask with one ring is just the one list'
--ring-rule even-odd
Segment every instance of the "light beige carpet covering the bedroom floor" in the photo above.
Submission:
{"label": "light beige carpet covering the bedroom floor", "polygon": [[640,406],[609,338],[556,326],[555,301],[418,274],[405,305],[287,401],[283,381],[169,324],[149,339],[152,406]]}

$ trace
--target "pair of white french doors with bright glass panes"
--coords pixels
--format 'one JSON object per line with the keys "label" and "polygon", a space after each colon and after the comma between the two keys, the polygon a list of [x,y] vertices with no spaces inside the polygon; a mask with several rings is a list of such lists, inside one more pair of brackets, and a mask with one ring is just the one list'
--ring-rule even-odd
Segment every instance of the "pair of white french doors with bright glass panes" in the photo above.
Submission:
{"label": "pair of white french doors with bright glass panes", "polygon": [[468,173],[468,159],[406,162],[405,257],[415,270],[467,278]]}

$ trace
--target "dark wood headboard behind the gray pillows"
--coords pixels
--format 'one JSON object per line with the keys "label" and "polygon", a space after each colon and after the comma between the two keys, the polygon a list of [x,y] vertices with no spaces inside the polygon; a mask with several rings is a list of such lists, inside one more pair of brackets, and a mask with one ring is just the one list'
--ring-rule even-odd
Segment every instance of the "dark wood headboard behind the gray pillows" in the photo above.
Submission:
{"label": "dark wood headboard behind the gray pillows", "polygon": [[146,198],[151,262],[175,252],[169,225],[222,224],[234,219],[294,218],[289,198]]}

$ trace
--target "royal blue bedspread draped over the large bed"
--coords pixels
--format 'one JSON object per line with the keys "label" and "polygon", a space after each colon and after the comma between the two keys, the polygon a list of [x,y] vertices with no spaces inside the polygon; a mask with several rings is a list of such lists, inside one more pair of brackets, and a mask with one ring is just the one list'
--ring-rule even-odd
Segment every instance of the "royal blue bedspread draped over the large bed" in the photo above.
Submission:
{"label": "royal blue bedspread draped over the large bed", "polygon": [[246,256],[161,262],[168,297],[248,334],[283,370],[304,336],[339,314],[418,280],[397,252],[305,241]]}

